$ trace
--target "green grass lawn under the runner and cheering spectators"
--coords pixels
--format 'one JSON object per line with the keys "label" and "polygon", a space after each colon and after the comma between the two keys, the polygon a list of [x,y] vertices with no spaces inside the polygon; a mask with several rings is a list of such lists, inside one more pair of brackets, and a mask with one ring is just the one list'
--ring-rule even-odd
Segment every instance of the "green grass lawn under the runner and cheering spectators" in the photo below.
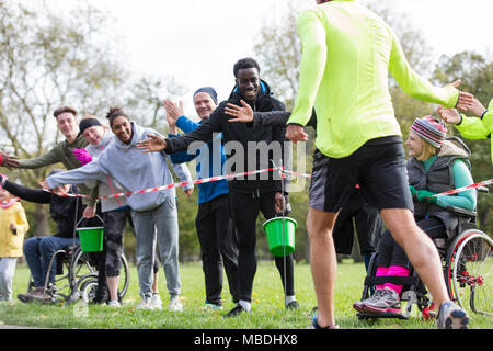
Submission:
{"label": "green grass lawn under the runner and cheering spectators", "polygon": [[[310,322],[310,312],[316,306],[310,267],[295,265],[296,296],[300,303],[298,310],[284,308],[284,295],[279,274],[273,262],[260,262],[253,286],[253,313],[237,318],[222,318],[233,307],[225,280],[222,310],[205,310],[204,274],[198,263],[181,265],[182,313],[167,310],[169,295],[162,268],[160,269],[160,294],[162,310],[136,309],[139,303],[137,271],[130,270],[130,287],[122,308],[105,306],[68,306],[23,304],[15,298],[12,303],[0,304],[0,324],[20,325],[57,329],[305,329]],[[352,308],[359,299],[365,269],[363,263],[344,262],[339,265],[336,283],[336,321],[344,329],[435,329],[434,321],[425,321],[413,312],[409,320],[376,319],[359,320]],[[18,264],[13,287],[14,296],[24,293],[28,279],[28,269]],[[85,308],[81,314],[81,308]],[[470,328],[490,329],[492,318],[471,316]]]}

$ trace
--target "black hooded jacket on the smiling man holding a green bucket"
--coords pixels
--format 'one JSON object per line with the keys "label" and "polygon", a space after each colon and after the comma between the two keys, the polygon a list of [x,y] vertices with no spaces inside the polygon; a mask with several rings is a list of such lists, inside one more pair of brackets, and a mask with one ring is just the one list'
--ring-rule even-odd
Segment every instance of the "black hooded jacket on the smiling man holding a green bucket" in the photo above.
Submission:
{"label": "black hooded jacket on the smiling man holding a green bucket", "polygon": [[[286,110],[284,103],[272,97],[271,88],[266,82],[261,81],[260,89],[261,92],[256,97],[254,104],[251,104],[253,111],[271,112]],[[272,168],[274,167],[274,163],[279,166],[278,158],[285,159],[285,126],[262,126],[253,123],[228,122],[232,117],[225,113],[226,105],[232,103],[241,106],[241,99],[238,87],[234,87],[229,99],[221,102],[207,121],[198,128],[180,137],[168,138],[165,140],[167,148],[164,151],[167,154],[185,151],[192,143],[207,143],[213,139],[213,134],[222,133],[222,143],[226,145],[225,147],[228,157],[226,163],[227,168],[229,168],[226,170],[228,173],[242,173],[245,171]],[[264,146],[271,145],[272,149],[275,148],[272,143],[277,141],[278,144],[277,144],[277,150],[282,150],[282,155],[279,156],[278,152],[275,152],[272,149],[267,154],[262,154],[259,150],[262,146],[262,141],[266,144]],[[249,147],[251,150],[256,148],[256,151],[248,152]],[[243,150],[245,152],[240,152]],[[255,157],[255,159],[253,159],[253,157]],[[266,179],[267,176],[268,178]],[[246,177],[232,179],[229,182],[229,189],[241,193],[266,193],[282,190],[280,178],[277,171],[276,174],[270,172],[268,174],[250,177],[254,178]]]}

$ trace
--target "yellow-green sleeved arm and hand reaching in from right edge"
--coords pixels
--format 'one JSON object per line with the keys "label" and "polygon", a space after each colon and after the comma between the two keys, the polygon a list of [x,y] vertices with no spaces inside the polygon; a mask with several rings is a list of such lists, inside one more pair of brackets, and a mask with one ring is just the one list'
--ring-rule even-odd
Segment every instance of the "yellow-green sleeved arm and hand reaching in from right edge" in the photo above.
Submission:
{"label": "yellow-green sleeved arm and hand reaching in from right edge", "polygon": [[[478,99],[473,100],[472,106],[469,109],[475,117],[468,117],[459,114],[455,109],[438,109],[440,117],[450,124],[455,124],[457,131],[468,139],[491,139],[493,132],[493,99],[485,109]],[[493,140],[491,143],[491,161],[493,165]]]}

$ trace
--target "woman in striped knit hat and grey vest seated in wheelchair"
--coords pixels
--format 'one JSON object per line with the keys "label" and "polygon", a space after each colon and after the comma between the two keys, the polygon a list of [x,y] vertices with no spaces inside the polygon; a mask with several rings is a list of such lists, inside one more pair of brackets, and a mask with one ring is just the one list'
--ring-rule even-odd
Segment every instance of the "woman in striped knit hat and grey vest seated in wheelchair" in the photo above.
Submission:
{"label": "woman in striped knit hat and grey vest seated in wheelchair", "polygon": [[[405,141],[410,157],[406,167],[414,217],[420,228],[432,239],[455,235],[459,218],[447,212],[447,206],[473,211],[477,204],[473,189],[454,195],[429,197],[473,183],[468,160],[470,150],[459,138],[446,138],[446,135],[447,128],[442,122],[425,116],[414,121]],[[404,250],[388,230],[380,239],[376,264],[376,276],[408,276],[411,273]],[[400,314],[402,288],[402,285],[392,283],[377,285],[369,298],[356,302],[353,307],[377,315]]]}

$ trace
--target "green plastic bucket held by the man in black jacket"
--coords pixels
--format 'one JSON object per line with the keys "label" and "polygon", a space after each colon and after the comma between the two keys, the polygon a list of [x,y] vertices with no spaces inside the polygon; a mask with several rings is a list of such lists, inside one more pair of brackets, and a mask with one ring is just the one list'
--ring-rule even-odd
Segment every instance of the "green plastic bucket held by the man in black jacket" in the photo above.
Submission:
{"label": "green plastic bucket held by the man in black jacket", "polygon": [[[285,237],[283,238],[283,219]],[[267,235],[268,251],[276,257],[291,254],[295,251],[295,230],[298,224],[290,217],[271,218],[264,223],[264,230]],[[286,244],[286,250],[285,246]]]}

